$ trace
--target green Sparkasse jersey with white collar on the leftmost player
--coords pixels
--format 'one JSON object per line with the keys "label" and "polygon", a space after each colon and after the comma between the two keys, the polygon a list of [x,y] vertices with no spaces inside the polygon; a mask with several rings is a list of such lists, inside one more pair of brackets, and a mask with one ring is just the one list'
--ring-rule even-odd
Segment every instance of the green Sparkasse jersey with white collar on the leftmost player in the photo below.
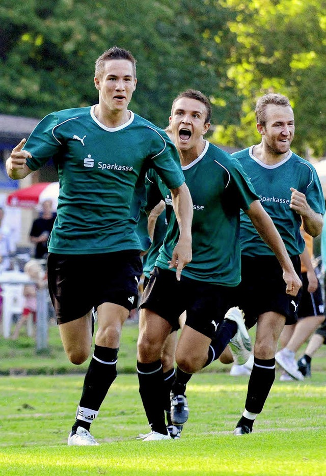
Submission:
{"label": "green Sparkasse jersey with white collar on the leftmost player", "polygon": [[135,232],[137,210],[131,212],[135,188],[142,190],[150,167],[168,188],[184,182],[177,150],[162,129],[131,111],[128,122],[108,128],[96,119],[94,107],[49,114],[25,144],[33,156],[27,160],[30,169],[53,157],[58,170],[51,253],[141,249]]}

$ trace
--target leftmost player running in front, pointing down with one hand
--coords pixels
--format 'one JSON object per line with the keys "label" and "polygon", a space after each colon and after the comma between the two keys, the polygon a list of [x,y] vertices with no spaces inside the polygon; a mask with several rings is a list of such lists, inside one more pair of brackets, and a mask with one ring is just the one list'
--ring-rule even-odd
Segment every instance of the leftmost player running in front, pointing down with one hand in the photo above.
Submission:
{"label": "leftmost player running in front, pointing down with one hand", "polygon": [[192,258],[193,205],[177,150],[163,130],[128,109],[137,83],[132,54],[116,46],[105,51],[96,61],[94,83],[98,104],[49,114],[6,162],[13,179],[51,157],[58,167],[48,285],[64,350],[76,365],[89,356],[91,310],[97,310],[94,353],[69,445],[98,444],[90,425],[116,378],[121,328],[138,296],[141,243],[130,209],[133,199],[141,207],[149,167],[171,190],[180,225],[170,264],[177,267],[176,281]]}

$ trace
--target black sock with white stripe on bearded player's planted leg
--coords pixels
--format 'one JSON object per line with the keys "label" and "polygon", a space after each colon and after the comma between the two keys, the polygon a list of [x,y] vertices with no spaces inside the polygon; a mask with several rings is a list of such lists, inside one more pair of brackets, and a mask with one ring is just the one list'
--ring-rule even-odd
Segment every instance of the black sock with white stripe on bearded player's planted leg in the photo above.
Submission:
{"label": "black sock with white stripe on bearded player's planted leg", "polygon": [[254,367],[250,375],[246,410],[260,413],[275,380],[275,358],[268,360],[254,357]]}

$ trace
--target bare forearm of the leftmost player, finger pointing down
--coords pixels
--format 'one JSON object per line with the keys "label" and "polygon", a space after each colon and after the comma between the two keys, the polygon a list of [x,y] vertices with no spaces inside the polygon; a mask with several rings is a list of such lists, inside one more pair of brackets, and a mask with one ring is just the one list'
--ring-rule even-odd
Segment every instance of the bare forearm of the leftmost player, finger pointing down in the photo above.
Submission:
{"label": "bare forearm of the leftmost player, finger pointing down", "polygon": [[185,265],[192,260],[193,201],[185,182],[171,189],[172,205],[179,224],[180,236],[176,244],[169,268],[177,268],[177,279]]}

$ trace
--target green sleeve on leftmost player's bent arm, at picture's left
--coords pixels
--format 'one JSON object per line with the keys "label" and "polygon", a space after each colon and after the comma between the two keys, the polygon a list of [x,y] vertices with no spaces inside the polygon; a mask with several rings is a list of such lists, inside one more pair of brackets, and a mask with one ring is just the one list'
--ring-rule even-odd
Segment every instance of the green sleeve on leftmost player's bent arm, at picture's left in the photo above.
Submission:
{"label": "green sleeve on leftmost player's bent arm, at picture's left", "polygon": [[24,149],[31,152],[32,158],[28,158],[26,165],[31,170],[37,170],[46,163],[53,155],[58,154],[62,144],[53,134],[53,129],[58,125],[56,113],[45,116],[32,131]]}

